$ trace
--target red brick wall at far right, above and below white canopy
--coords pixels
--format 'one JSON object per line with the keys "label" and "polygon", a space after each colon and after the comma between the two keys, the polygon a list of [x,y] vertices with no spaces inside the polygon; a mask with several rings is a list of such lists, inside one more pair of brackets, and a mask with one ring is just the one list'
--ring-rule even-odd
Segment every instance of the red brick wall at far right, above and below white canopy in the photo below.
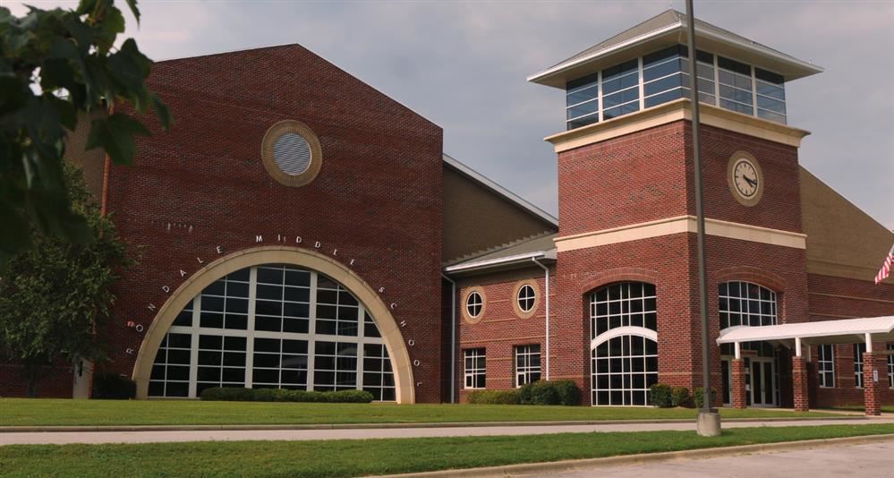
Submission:
{"label": "red brick wall at far right, above and below white canopy", "polygon": [[[810,294],[811,320],[837,320],[859,317],[880,317],[894,315],[894,286],[871,280],[856,280],[844,277],[809,274],[807,277]],[[885,350],[884,343],[873,344],[873,351]],[[816,347],[811,347],[815,361]],[[835,387],[814,387],[814,404],[863,405],[862,388],[856,388],[854,375],[854,346],[835,346]],[[887,368],[879,368],[879,380],[888,381]],[[883,384],[884,385],[884,384]],[[894,389],[887,385],[881,388],[881,403],[894,405]]]}

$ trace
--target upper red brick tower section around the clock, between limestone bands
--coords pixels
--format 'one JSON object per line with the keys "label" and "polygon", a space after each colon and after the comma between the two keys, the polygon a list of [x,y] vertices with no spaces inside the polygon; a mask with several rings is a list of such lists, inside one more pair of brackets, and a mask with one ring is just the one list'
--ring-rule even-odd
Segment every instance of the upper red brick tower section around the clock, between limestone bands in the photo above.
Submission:
{"label": "upper red brick tower section around the clock, between limestone bands", "polygon": [[[695,214],[688,122],[664,124],[558,154],[559,236]],[[766,178],[762,200],[739,204],[727,166],[751,153]],[[705,214],[709,218],[801,232],[797,149],[702,125]]]}

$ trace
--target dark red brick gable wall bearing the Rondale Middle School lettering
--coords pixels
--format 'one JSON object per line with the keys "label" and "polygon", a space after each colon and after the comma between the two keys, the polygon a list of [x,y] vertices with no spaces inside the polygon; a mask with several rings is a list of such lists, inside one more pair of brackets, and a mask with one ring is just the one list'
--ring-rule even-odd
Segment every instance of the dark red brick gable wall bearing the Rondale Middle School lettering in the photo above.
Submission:
{"label": "dark red brick gable wall bearing the Rondale Middle School lettering", "polygon": [[[420,115],[299,46],[156,64],[150,87],[176,124],[138,141],[135,166],[113,166],[107,209],[140,265],[116,287],[110,355],[130,374],[142,335],[183,278],[225,254],[287,235],[334,256],[370,286],[384,287],[406,320],[420,402],[440,400],[442,132]],[[317,178],[289,188],[260,160],[261,138],[296,119],[319,136]],[[319,249],[314,244],[321,244]],[[337,253],[334,250],[337,248]],[[70,394],[70,387],[68,393]]]}

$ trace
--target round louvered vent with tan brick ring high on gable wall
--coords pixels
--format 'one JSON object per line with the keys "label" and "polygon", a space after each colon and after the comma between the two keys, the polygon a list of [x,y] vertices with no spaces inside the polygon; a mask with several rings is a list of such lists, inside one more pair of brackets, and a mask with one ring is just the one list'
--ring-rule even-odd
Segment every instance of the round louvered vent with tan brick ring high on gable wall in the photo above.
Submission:
{"label": "round louvered vent with tan brick ring high on gable wall", "polygon": [[306,124],[294,120],[270,126],[264,134],[260,156],[269,175],[292,187],[313,181],[323,159],[317,135]]}

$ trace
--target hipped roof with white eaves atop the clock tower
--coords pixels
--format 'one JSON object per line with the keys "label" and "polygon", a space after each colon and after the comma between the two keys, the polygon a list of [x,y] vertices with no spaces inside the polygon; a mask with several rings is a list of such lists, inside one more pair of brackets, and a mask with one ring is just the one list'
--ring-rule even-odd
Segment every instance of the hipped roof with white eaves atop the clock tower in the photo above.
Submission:
{"label": "hipped roof with white eaves atop the clock tower", "polygon": [[[729,30],[721,29],[707,21],[695,19],[695,32],[700,38],[700,49],[705,48],[711,53],[721,55],[738,56],[742,60],[782,74],[786,81],[823,71],[820,66],[799,60],[792,55],[782,53]],[[636,52],[635,55],[623,53],[628,49],[636,51],[638,47],[643,47],[643,44],[655,44],[653,45],[655,49],[675,43],[685,45],[686,35],[685,13],[671,9],[572,55],[540,73],[529,76],[528,81],[564,89],[566,81],[574,80],[584,74],[594,73],[595,70],[602,67],[611,66],[611,64],[600,64],[600,60],[604,61],[609,57],[617,58],[618,54],[626,55],[624,59],[630,59],[642,53],[649,53],[647,51]],[[755,58],[761,59],[761,64],[757,64]],[[623,61],[623,59],[617,59]]]}

